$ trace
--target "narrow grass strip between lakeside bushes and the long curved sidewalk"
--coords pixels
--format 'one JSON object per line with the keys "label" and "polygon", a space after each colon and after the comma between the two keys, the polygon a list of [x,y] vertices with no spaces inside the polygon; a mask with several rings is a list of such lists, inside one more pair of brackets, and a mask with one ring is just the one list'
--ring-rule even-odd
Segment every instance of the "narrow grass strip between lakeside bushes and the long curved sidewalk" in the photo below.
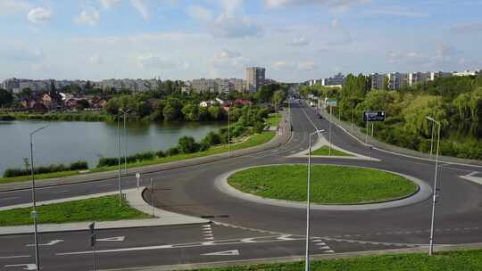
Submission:
{"label": "narrow grass strip between lakeside bushes and the long curved sidewalk", "polygon": [[[231,144],[231,151],[247,149],[257,145],[265,144],[269,142],[275,135],[276,135],[275,132],[262,132],[262,134],[255,134],[253,136],[250,136],[247,140],[243,142],[240,142],[237,144]],[[155,164],[168,163],[168,162],[177,161],[177,160],[187,160],[191,158],[204,157],[204,156],[219,154],[223,152],[228,152],[227,144],[214,146],[205,152],[179,154],[179,155],[164,157],[164,158],[155,159],[155,160],[145,160],[142,162],[131,163],[131,164],[128,164],[127,167],[137,168],[137,167],[143,167],[143,166],[149,166],[149,165],[155,165]],[[109,171],[109,170],[116,170],[116,169],[117,169],[117,166],[104,167],[104,168],[91,168],[89,172],[90,173],[101,172],[101,171]],[[74,176],[79,174],[80,174],[79,171],[62,171],[62,172],[54,172],[54,173],[47,173],[47,174],[39,174],[35,176],[35,179],[41,180],[41,179],[48,179],[48,178],[54,178],[54,177],[69,177],[69,176]],[[25,181],[29,181],[30,179],[31,179],[30,176],[3,177],[3,178],[0,178],[0,184],[25,182]]]}

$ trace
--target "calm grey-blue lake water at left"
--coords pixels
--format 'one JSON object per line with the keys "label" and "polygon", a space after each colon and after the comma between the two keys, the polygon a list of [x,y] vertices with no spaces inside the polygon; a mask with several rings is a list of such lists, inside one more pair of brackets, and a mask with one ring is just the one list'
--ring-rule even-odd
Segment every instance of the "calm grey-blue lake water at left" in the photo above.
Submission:
{"label": "calm grey-blue lake water at left", "polygon": [[[77,121],[0,121],[0,177],[6,168],[24,167],[30,157],[29,133],[48,125],[34,136],[35,166],[87,160],[95,168],[99,157],[117,157],[117,123]],[[222,123],[128,123],[128,154],[167,150],[178,144],[179,137],[202,139]],[[120,123],[120,144],[124,137]]]}

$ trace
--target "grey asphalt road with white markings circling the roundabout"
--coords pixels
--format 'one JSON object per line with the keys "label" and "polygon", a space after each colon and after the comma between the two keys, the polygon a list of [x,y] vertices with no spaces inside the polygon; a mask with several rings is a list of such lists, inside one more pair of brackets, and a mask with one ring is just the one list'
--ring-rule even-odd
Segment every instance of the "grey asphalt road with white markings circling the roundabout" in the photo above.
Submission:
{"label": "grey asphalt road with white markings circling the roundabout", "polygon": [[[214,185],[216,177],[237,168],[306,163],[304,158],[287,156],[307,148],[308,134],[315,130],[315,126],[328,131],[328,121],[319,119],[316,112],[305,104],[293,103],[291,112],[293,137],[278,149],[144,176],[145,180],[149,177],[155,180],[157,207],[196,217],[211,217],[223,225],[104,230],[98,238],[118,238],[98,242],[98,266],[104,269],[147,267],[303,255],[306,215],[303,209],[240,200],[221,193]],[[332,141],[348,151],[368,155],[365,145],[336,126],[332,126]],[[381,161],[312,160],[313,163],[381,168],[418,177],[429,185],[433,183],[433,161],[377,150],[372,151],[371,156]],[[479,216],[482,186],[461,178],[478,169],[453,164],[441,165],[440,197],[436,206],[436,244],[482,242],[482,229],[479,228],[482,220]],[[125,179],[125,187],[134,185],[133,178]],[[37,199],[52,200],[116,189],[117,179],[109,179],[39,189]],[[0,193],[0,206],[29,201],[29,191]],[[430,210],[430,199],[395,209],[312,210],[312,253],[333,254],[424,246],[428,243]],[[27,266],[35,262],[34,250],[29,246],[31,243],[31,234],[0,236],[0,270],[25,270],[32,267]],[[41,234],[40,243],[45,244],[40,247],[44,270],[92,269],[92,249],[88,244],[87,231]]]}

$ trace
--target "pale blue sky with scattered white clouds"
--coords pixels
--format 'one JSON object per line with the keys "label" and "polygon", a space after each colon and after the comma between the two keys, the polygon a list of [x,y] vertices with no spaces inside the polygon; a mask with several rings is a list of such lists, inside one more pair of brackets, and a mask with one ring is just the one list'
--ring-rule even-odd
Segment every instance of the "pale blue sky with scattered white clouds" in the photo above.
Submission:
{"label": "pale blue sky with scattered white clouds", "polygon": [[482,0],[0,0],[0,80],[482,69]]}

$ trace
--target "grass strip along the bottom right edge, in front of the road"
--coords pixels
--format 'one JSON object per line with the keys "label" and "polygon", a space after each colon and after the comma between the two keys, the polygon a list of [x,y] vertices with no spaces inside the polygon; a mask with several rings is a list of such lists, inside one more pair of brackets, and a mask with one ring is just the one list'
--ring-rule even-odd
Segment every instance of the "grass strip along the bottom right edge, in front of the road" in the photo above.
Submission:
{"label": "grass strip along the bottom right edge, in front of the road", "polygon": [[[476,271],[482,270],[482,250],[399,254],[346,259],[313,260],[312,271]],[[245,267],[199,269],[197,271],[303,271],[303,262]]]}

